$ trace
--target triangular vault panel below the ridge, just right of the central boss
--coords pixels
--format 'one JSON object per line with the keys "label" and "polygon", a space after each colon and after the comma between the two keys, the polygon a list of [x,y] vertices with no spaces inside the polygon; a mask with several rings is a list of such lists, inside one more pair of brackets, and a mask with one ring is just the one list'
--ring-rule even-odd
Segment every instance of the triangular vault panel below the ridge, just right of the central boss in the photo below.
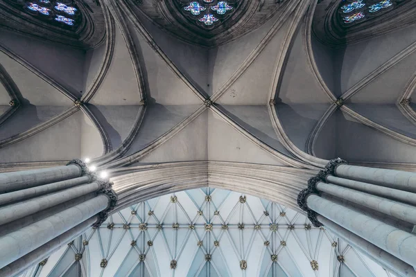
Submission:
{"label": "triangular vault panel below the ridge, just right of the central boss", "polygon": [[277,138],[266,105],[223,105],[220,109],[257,139],[291,157]]}

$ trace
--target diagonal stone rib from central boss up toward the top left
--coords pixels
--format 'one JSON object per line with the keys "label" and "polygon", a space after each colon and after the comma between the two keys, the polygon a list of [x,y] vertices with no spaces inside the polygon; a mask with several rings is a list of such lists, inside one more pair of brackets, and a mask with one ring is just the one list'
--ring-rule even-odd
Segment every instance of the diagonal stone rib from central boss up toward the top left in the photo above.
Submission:
{"label": "diagonal stone rib from central boss up toward the top left", "polygon": [[[205,100],[204,94],[201,91],[199,91],[191,83],[191,81],[188,80],[188,78],[180,71],[180,69],[177,68],[177,66],[175,66],[175,64],[171,61],[171,59],[169,59],[169,57],[164,53],[164,51],[162,51],[162,48],[157,46],[157,43],[155,42],[153,37],[150,35],[150,33],[148,33],[146,28],[144,28],[143,24],[141,24],[140,20],[132,12],[132,10],[130,10],[128,8],[128,5],[125,3],[125,1],[120,1],[119,3],[120,3],[121,6],[123,6],[123,12],[125,12],[125,16],[128,17],[128,19],[130,19],[130,21],[132,21],[132,24],[134,25],[135,30],[137,30],[137,32],[139,32],[139,34],[146,40],[146,42],[148,43],[150,48],[153,48],[155,53],[157,53],[157,55],[159,55],[159,57],[161,57],[162,60],[164,60],[164,62],[166,62],[166,65],[168,66],[168,68],[171,69],[173,71],[173,73],[175,73],[177,78],[182,80],[182,82],[184,82],[184,84],[189,89],[191,89],[193,94],[195,94],[196,97],[200,98],[200,100],[203,102]],[[111,9],[111,7],[110,7],[110,9]]]}

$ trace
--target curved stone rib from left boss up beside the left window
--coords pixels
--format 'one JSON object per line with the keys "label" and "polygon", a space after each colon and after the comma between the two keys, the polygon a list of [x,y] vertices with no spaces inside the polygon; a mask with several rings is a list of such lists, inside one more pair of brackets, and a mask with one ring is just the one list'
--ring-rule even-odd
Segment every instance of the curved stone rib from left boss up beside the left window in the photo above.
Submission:
{"label": "curved stone rib from left boss up beside the left window", "polygon": [[105,19],[105,53],[103,62],[101,63],[98,74],[92,81],[92,84],[87,89],[87,92],[83,95],[81,100],[83,102],[88,102],[94,97],[94,94],[98,91],[99,87],[103,83],[105,76],[107,75],[108,69],[110,69],[110,64],[112,62],[112,57],[114,55],[114,44],[116,43],[116,34],[114,19],[110,15],[107,6],[103,6],[103,13]]}

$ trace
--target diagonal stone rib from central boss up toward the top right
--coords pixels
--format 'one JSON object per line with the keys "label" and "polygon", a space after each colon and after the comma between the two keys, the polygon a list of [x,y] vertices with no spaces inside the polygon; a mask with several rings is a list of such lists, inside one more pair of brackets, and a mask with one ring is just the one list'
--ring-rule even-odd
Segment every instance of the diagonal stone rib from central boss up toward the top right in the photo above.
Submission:
{"label": "diagonal stone rib from central boss up toward the top right", "polygon": [[254,60],[260,55],[260,53],[263,51],[264,48],[268,45],[268,43],[272,40],[273,37],[277,34],[277,32],[280,30],[281,26],[284,24],[286,20],[288,20],[288,17],[292,14],[292,12],[297,8],[298,3],[296,1],[291,1],[291,4],[287,6],[281,15],[276,21],[275,24],[273,24],[272,28],[268,31],[265,37],[261,39],[261,42],[259,45],[254,48],[254,50],[248,55],[248,57],[244,60],[244,62],[239,66],[236,71],[232,74],[232,76],[223,84],[222,87],[216,91],[213,96],[211,96],[211,99],[215,102],[217,101],[227,89],[229,89],[236,80],[238,80],[241,75],[248,69],[250,64],[254,62]]}

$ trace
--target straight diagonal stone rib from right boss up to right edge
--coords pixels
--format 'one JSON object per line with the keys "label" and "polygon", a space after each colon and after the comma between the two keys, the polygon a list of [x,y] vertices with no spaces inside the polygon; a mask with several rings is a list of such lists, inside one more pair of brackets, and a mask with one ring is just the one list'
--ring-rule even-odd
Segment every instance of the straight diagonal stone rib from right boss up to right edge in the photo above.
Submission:
{"label": "straight diagonal stone rib from right boss up to right edge", "polygon": [[414,53],[416,50],[416,42],[413,42],[413,44],[410,44],[404,50],[400,51],[396,55],[390,58],[387,62],[381,64],[378,68],[376,68],[374,71],[372,71],[370,74],[366,75],[363,79],[360,80],[360,82],[354,84],[353,87],[348,89],[343,95],[341,96],[344,100],[347,100],[354,96],[355,93],[358,93],[363,87],[365,87],[367,84],[370,84],[373,80],[378,78],[381,74],[383,74],[385,71],[388,71],[388,69],[392,68],[392,66],[395,66],[401,60],[403,60],[408,55]]}

